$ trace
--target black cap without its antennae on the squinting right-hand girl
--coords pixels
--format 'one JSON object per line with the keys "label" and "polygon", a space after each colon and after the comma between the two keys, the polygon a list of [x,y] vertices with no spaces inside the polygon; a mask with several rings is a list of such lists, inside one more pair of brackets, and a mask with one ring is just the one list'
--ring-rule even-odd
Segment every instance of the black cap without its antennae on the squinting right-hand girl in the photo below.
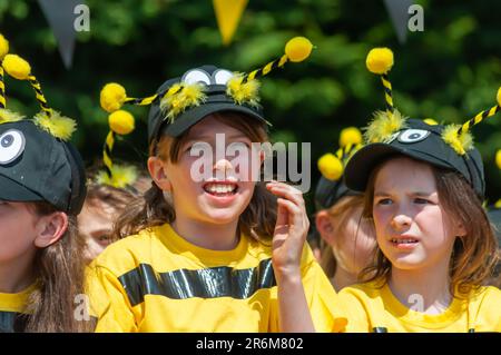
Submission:
{"label": "black cap without its antennae on the squinting right-hand girl", "polygon": [[344,179],[348,188],[364,191],[372,170],[395,155],[455,170],[472,186],[479,197],[485,191],[483,164],[477,148],[459,155],[442,139],[444,126],[428,125],[419,119],[406,119],[405,125],[387,142],[369,144],[350,159]]}

